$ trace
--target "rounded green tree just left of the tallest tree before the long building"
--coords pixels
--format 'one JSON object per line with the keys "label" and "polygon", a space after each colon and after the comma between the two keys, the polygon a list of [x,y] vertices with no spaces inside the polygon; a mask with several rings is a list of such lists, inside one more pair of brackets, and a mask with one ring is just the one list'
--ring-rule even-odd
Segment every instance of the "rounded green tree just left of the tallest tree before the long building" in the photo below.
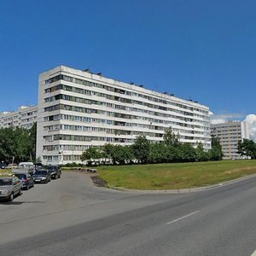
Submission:
{"label": "rounded green tree just left of the tallest tree before the long building", "polygon": [[146,136],[138,136],[132,144],[133,154],[138,163],[146,164],[149,160],[150,142]]}

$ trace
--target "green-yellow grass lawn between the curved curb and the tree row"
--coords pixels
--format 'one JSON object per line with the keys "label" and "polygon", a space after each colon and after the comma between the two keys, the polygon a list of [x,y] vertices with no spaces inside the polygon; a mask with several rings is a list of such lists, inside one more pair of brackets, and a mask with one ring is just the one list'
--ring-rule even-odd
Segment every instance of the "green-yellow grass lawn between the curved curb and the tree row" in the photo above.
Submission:
{"label": "green-yellow grass lawn between the curved curb and the tree row", "polygon": [[256,160],[100,166],[97,173],[107,186],[125,189],[189,189],[256,173]]}

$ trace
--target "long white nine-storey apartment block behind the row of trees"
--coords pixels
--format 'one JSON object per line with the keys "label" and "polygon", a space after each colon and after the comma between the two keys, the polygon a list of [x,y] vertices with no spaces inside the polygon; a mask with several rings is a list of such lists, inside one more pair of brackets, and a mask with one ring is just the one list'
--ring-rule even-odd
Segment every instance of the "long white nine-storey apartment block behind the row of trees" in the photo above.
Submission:
{"label": "long white nine-storey apartment block behind the row of trees", "polygon": [[197,102],[59,66],[39,75],[37,157],[80,162],[90,145],[163,140],[172,127],[183,143],[211,148],[209,108]]}

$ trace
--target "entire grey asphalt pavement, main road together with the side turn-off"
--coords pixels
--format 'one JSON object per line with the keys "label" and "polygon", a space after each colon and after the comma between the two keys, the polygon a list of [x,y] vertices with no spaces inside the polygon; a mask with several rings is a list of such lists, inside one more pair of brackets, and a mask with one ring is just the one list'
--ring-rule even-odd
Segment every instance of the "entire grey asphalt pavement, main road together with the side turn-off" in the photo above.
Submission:
{"label": "entire grey asphalt pavement, main road together with the side turn-off", "polygon": [[182,195],[96,188],[64,172],[0,203],[0,255],[251,255],[256,178]]}

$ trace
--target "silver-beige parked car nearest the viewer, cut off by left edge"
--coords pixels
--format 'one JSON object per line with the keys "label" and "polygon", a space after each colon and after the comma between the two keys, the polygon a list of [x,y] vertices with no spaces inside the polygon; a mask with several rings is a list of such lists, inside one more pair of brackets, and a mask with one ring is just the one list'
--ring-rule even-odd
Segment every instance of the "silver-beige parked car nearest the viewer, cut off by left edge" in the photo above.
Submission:
{"label": "silver-beige parked car nearest the viewer, cut off by left edge", "polygon": [[22,183],[18,177],[0,177],[0,199],[13,201],[15,195],[21,195]]}

